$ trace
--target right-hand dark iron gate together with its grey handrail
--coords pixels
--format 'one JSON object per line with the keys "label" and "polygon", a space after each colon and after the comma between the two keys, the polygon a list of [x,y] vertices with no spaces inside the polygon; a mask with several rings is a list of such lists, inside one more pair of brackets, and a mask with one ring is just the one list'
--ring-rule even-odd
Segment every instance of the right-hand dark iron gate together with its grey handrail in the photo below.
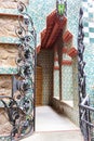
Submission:
{"label": "right-hand dark iron gate together with its grey handrail", "polygon": [[78,79],[79,79],[79,115],[80,115],[80,128],[84,137],[84,141],[94,141],[91,136],[91,131],[94,128],[91,121],[91,113],[94,112],[94,107],[90,105],[90,98],[85,91],[85,73],[84,66],[85,62],[83,60],[84,44],[83,44],[83,23],[82,23],[83,10],[80,9],[79,18],[79,34],[78,34]]}

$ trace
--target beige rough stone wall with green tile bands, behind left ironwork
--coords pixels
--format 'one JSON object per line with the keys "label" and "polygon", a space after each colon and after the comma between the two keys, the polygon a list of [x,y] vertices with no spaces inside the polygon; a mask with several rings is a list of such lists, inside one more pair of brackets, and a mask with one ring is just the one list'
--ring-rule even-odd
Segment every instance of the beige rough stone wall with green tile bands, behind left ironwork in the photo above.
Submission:
{"label": "beige rough stone wall with green tile bands, behind left ironwork", "polygon": [[[21,0],[28,4],[29,0]],[[12,95],[12,75],[17,73],[15,59],[18,55],[15,29],[18,26],[18,0],[0,0],[0,95]],[[13,70],[14,69],[14,70]],[[16,73],[14,73],[16,72]],[[17,93],[16,93],[17,95]],[[16,95],[14,99],[16,99]],[[3,98],[9,103],[9,99]],[[0,101],[0,141],[9,140],[13,126],[9,121],[4,102]],[[2,107],[1,107],[2,106]],[[3,137],[1,139],[1,137]]]}

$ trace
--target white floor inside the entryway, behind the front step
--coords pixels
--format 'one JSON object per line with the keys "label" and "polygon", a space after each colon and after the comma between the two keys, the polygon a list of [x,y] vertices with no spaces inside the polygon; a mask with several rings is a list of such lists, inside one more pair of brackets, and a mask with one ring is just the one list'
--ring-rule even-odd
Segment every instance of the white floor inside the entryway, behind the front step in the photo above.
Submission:
{"label": "white floor inside the entryway, behind the front step", "polygon": [[36,108],[36,131],[78,130],[65,115],[58,115],[50,106]]}

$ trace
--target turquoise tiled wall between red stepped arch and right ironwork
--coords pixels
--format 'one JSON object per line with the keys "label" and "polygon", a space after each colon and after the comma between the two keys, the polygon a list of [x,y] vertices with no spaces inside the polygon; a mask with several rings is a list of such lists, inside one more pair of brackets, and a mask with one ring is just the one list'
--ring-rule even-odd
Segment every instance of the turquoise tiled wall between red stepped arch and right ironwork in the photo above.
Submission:
{"label": "turquoise tiled wall between red stepped arch and right ironwork", "polygon": [[78,47],[78,22],[79,22],[79,9],[81,7],[81,0],[67,0],[67,18],[68,29],[73,35],[73,46]]}

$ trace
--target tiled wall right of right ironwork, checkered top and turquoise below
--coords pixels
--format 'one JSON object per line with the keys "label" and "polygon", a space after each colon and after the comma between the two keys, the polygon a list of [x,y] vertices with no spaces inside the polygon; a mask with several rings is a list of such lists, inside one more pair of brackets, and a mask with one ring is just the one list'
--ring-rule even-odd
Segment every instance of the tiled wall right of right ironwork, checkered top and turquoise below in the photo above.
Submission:
{"label": "tiled wall right of right ironwork, checkered top and turquoise below", "polygon": [[84,26],[84,61],[86,75],[86,93],[90,94],[92,104],[94,101],[94,0],[83,0],[83,26]]}

